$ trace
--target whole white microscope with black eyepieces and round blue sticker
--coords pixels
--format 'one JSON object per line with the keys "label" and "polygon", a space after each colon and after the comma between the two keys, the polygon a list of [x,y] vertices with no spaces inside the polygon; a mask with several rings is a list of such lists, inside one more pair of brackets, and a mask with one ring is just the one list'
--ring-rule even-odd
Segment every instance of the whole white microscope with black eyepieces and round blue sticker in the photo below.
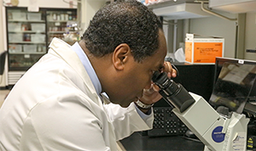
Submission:
{"label": "whole white microscope with black eyepieces and round blue sticker", "polygon": [[215,110],[199,95],[187,90],[168,78],[165,72],[155,71],[152,81],[160,87],[160,94],[174,109],[173,113],[195,133],[204,151],[247,150],[246,115],[229,112],[220,107]]}

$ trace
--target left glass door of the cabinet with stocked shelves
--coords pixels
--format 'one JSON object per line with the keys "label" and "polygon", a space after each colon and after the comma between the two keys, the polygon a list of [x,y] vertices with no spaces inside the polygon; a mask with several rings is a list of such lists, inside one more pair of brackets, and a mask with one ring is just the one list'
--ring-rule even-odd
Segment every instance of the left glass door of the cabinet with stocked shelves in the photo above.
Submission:
{"label": "left glass door of the cabinet with stocked shelves", "polygon": [[9,70],[27,70],[46,53],[44,11],[7,8]]}

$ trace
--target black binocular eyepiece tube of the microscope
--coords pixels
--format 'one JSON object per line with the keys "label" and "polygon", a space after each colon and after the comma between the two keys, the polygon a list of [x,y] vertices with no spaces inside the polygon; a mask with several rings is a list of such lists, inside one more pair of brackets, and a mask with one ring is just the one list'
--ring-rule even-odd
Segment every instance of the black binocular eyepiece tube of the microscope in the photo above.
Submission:
{"label": "black binocular eyepiece tube of the microscope", "polygon": [[181,84],[172,81],[166,72],[155,71],[152,81],[160,87],[160,94],[166,102],[171,103],[181,113],[195,103],[189,92]]}

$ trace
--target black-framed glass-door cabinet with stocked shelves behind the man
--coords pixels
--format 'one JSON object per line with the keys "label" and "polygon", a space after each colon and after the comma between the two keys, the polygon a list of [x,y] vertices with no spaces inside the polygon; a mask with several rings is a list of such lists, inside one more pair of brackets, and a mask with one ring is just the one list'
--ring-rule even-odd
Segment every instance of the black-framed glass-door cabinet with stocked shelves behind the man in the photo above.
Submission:
{"label": "black-framed glass-door cabinet with stocked shelves behind the man", "polygon": [[74,8],[40,8],[28,12],[27,8],[6,7],[7,46],[9,53],[9,85],[15,84],[45,53],[53,37],[63,38],[67,23],[77,20]]}

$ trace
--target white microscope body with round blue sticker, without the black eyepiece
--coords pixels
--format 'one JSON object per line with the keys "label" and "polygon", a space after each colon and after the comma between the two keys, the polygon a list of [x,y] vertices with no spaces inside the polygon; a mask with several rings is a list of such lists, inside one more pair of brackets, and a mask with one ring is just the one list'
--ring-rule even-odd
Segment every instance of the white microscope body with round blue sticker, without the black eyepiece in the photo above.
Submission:
{"label": "white microscope body with round blue sticker, without the black eyepiece", "polygon": [[195,103],[183,113],[178,109],[173,109],[173,112],[206,145],[205,151],[247,150],[249,119],[245,115],[233,112],[227,118],[219,115],[201,96],[191,92],[189,94],[195,99]]}

